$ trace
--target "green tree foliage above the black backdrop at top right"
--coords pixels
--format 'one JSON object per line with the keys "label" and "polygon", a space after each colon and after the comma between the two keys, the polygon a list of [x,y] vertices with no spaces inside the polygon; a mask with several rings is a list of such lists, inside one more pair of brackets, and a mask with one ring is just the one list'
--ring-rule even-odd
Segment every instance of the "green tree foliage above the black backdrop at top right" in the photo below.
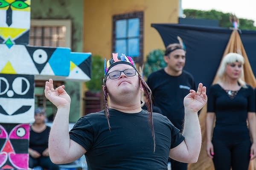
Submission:
{"label": "green tree foliage above the black backdrop at top right", "polygon": [[[218,20],[220,27],[232,27],[230,23],[230,13],[223,13],[221,11],[210,10],[210,11],[201,11],[195,9],[184,9],[183,13],[186,17],[197,18],[197,19],[209,19],[209,20]],[[247,30],[256,30],[256,27],[253,26],[253,20],[247,20],[244,18],[239,18],[239,28]]]}

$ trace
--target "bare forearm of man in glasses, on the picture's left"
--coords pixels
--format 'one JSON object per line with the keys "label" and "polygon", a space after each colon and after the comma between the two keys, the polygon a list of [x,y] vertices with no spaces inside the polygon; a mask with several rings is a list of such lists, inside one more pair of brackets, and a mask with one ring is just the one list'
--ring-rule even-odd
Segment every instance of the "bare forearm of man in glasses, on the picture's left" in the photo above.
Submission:
{"label": "bare forearm of man in glasses, on the picture's left", "polygon": [[70,147],[69,112],[70,105],[58,108],[53,121],[49,134],[49,156],[52,160],[61,159]]}

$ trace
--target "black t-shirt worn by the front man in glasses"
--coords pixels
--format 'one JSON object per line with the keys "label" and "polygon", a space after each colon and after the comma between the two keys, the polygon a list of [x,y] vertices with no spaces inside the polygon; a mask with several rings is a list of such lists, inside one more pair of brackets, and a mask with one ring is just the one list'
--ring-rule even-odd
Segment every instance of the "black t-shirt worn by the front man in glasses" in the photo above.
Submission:
{"label": "black t-shirt worn by the front man in glasses", "polygon": [[155,142],[148,125],[148,113],[109,110],[111,131],[104,111],[81,117],[70,139],[87,150],[88,170],[166,170],[169,151],[184,137],[163,115],[153,113]]}

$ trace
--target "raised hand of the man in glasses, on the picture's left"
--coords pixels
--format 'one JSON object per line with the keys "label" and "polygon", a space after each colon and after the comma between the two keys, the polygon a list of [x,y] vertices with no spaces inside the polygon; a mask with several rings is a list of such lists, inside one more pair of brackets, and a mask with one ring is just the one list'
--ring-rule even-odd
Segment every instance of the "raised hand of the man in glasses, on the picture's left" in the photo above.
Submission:
{"label": "raised hand of the man in glasses, on the picture's left", "polygon": [[71,102],[70,96],[64,90],[64,85],[54,89],[52,79],[49,79],[49,82],[45,82],[44,95],[57,108],[60,106],[70,105]]}

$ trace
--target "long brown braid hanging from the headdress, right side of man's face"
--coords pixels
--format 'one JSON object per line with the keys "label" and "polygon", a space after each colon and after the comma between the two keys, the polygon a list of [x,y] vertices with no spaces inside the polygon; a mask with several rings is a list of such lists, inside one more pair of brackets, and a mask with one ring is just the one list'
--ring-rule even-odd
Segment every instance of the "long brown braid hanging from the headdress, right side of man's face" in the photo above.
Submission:
{"label": "long brown braid hanging from the headdress, right side of man's face", "polygon": [[151,97],[152,92],[140,74],[139,74],[139,78],[140,78],[141,85],[144,89],[144,93],[147,95],[146,97],[148,98],[148,102],[146,103],[146,106],[148,107],[148,123],[149,123],[150,129],[151,129],[151,132],[152,132],[152,137],[153,137],[153,141],[154,141],[154,151],[155,151],[156,142],[155,142],[155,134],[154,134],[153,115],[152,115],[152,97]]}

